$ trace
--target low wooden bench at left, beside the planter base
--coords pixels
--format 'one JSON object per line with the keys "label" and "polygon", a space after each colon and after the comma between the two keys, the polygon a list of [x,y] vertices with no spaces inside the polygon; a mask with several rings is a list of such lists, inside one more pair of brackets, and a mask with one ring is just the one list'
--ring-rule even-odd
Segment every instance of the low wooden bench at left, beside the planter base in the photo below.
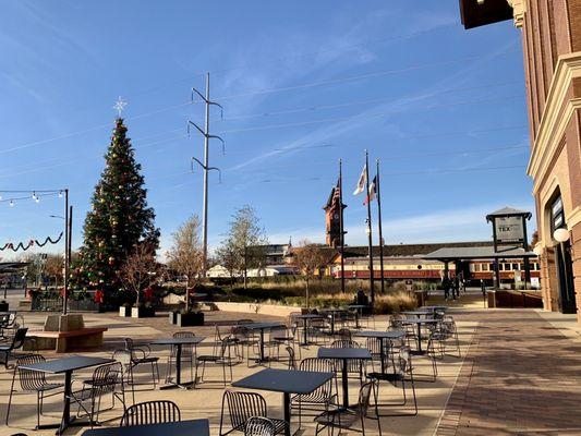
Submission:
{"label": "low wooden bench at left, beside the planter base", "polygon": [[[70,331],[34,331],[29,337],[36,338],[39,350],[56,350],[64,353],[75,348],[95,348],[102,346],[106,327],[90,327]],[[46,339],[46,340],[43,340]]]}

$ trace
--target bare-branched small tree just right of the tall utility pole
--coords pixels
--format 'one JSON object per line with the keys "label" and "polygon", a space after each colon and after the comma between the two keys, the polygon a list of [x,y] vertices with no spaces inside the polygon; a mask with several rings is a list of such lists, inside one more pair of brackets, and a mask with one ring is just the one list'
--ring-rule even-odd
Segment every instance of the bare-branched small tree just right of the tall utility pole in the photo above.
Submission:
{"label": "bare-branched small tree just right of the tall utility pole", "polygon": [[238,259],[235,269],[243,272],[244,289],[247,287],[249,269],[266,264],[267,244],[268,239],[254,209],[249,205],[238,209],[222,246],[233,259]]}

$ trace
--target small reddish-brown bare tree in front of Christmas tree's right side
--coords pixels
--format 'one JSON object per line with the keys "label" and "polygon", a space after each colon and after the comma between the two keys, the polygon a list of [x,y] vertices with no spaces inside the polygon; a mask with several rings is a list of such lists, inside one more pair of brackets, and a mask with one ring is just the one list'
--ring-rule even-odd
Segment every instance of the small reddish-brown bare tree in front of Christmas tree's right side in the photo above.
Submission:
{"label": "small reddish-brown bare tree in front of Christmas tree's right side", "polygon": [[155,280],[158,271],[155,250],[147,243],[138,244],[121,266],[120,279],[129,291],[135,293],[136,306],[141,302],[141,292]]}

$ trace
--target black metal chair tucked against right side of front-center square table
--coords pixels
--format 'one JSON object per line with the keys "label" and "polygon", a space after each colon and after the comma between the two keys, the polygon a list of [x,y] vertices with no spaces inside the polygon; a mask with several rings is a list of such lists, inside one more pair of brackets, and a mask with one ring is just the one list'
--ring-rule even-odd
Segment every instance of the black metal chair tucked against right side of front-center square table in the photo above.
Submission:
{"label": "black metal chair tucked against right side of front-center square table", "polygon": [[[307,358],[301,361],[299,371],[311,371],[318,373],[335,373],[335,364],[328,359]],[[305,416],[316,416],[322,410],[329,410],[336,403],[337,378],[331,378],[324,385],[319,386],[311,393],[299,393],[291,398],[291,409],[299,410],[299,425],[302,422],[303,410],[315,411],[315,414],[304,414]]]}

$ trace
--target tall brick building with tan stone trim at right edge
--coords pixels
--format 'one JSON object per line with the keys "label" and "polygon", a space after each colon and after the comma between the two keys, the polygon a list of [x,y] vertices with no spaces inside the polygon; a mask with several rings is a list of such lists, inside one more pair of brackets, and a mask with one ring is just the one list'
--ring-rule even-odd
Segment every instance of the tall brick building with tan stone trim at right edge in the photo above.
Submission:
{"label": "tall brick building with tan stone trim at right edge", "polygon": [[465,28],[522,32],[544,306],[581,322],[581,0],[460,0],[460,13]]}

